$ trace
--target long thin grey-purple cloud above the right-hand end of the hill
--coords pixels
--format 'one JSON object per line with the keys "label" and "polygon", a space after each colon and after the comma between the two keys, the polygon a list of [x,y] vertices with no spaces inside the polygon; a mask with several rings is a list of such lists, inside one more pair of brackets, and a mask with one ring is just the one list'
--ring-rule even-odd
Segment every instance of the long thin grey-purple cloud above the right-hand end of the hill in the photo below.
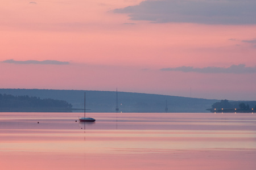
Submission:
{"label": "long thin grey-purple cloud above the right-hand end of the hill", "polygon": [[188,72],[196,72],[196,73],[232,73],[232,74],[245,74],[245,73],[256,73],[255,67],[246,67],[243,64],[240,65],[232,65],[230,67],[203,67],[203,68],[195,68],[195,67],[174,67],[174,68],[163,68],[161,71],[182,71],[185,73]]}

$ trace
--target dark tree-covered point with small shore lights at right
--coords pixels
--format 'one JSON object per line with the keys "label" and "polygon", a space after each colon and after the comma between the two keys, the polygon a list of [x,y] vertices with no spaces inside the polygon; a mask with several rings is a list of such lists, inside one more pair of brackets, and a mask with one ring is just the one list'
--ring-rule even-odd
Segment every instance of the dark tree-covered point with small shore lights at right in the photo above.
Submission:
{"label": "dark tree-covered point with small shore lights at right", "polygon": [[256,111],[256,101],[229,101],[221,100],[212,105],[212,112],[252,112]]}

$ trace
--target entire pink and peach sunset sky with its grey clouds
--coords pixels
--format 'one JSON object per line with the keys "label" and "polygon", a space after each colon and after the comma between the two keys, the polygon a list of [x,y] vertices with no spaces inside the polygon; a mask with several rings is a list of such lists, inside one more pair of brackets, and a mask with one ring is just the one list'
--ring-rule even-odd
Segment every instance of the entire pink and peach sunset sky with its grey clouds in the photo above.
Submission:
{"label": "entire pink and peach sunset sky with its grey clouds", "polygon": [[255,0],[2,0],[0,88],[256,100]]}

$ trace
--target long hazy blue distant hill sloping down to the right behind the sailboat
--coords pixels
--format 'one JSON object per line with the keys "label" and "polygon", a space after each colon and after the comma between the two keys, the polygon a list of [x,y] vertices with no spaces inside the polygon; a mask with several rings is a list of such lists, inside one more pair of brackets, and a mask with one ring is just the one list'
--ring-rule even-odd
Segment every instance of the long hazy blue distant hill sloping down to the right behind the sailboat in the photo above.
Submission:
{"label": "long hazy blue distant hill sloping down to the right behind the sailboat", "polygon": [[[40,99],[64,100],[73,105],[75,112],[83,112],[84,92],[86,92],[86,112],[115,112],[115,91],[84,90],[39,90],[39,89],[0,89],[0,94],[28,95]],[[209,112],[213,103],[220,100],[198,99],[191,97],[118,92],[119,112]]]}

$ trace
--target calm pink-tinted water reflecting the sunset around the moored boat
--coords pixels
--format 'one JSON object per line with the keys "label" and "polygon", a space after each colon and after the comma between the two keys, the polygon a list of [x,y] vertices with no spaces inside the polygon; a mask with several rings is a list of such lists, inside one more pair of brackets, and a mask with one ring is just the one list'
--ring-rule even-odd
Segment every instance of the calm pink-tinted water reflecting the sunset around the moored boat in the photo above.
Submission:
{"label": "calm pink-tinted water reflecting the sunset around the moored boat", "polygon": [[256,113],[78,116],[0,113],[1,169],[256,169]]}

